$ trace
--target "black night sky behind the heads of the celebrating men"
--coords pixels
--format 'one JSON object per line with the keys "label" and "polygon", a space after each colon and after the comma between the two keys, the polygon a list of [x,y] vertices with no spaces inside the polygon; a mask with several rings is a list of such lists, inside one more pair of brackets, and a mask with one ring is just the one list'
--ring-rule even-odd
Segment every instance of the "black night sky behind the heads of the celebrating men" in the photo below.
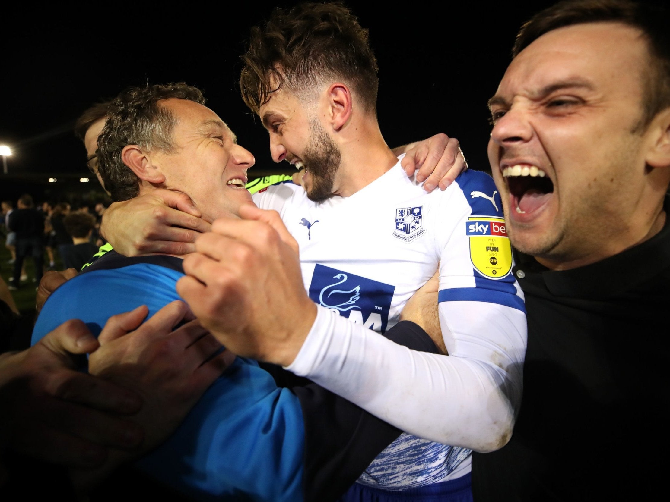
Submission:
{"label": "black night sky behind the heads of the celebrating men", "polygon": [[[379,60],[379,122],[387,143],[445,132],[460,139],[472,167],[488,167],[486,100],[509,63],[515,32],[550,3],[501,3],[494,10],[417,1],[380,10],[378,3],[349,1],[370,29]],[[0,144],[15,152],[11,172],[85,175],[84,151],[71,131],[78,114],[125,86],[180,80],[204,90],[257,167],[275,168],[267,134],[239,97],[239,54],[251,25],[273,6],[293,3],[242,2],[234,14],[224,9],[228,3],[198,3],[192,11],[188,3],[165,5],[110,7],[97,15],[89,7],[73,11],[68,22],[32,13],[29,23],[13,24],[0,75]],[[73,23],[74,17],[80,19]],[[7,181],[0,185],[9,189]]]}

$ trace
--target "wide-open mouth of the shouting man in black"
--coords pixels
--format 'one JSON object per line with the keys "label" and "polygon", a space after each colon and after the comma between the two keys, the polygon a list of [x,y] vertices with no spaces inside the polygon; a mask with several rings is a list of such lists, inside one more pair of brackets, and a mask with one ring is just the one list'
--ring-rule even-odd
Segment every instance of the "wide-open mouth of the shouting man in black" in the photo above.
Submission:
{"label": "wide-open mouth of the shouting man in black", "polygon": [[529,214],[539,210],[553,193],[553,181],[536,165],[516,164],[502,169],[509,187],[511,210]]}

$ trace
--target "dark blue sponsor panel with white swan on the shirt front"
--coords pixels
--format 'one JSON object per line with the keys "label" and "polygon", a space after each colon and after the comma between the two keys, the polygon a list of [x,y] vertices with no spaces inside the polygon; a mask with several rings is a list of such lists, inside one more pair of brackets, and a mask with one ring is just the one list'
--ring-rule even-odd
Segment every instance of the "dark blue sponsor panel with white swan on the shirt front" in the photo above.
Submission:
{"label": "dark blue sponsor panel with white swan on the shirt front", "polygon": [[310,298],[354,323],[384,333],[395,286],[316,264]]}

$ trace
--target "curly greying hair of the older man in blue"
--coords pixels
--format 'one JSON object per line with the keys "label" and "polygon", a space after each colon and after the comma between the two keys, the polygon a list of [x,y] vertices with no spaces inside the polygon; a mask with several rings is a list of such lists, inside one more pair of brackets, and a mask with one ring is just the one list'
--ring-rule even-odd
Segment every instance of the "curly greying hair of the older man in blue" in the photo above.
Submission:
{"label": "curly greying hair of the older man in blue", "polygon": [[113,201],[132,199],[139,192],[139,179],[121,159],[124,147],[174,151],[172,130],[177,119],[158,104],[170,98],[205,102],[200,89],[184,82],[131,87],[111,101],[107,122],[98,137],[98,172]]}

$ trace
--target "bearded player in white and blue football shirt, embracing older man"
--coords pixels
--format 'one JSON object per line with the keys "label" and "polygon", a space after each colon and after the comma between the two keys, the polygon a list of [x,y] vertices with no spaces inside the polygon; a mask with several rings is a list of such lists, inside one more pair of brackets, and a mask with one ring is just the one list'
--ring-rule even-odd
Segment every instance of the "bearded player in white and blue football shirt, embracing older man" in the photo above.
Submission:
{"label": "bearded player in white and blue football shirt, embracing older man", "polygon": [[[356,404],[408,432],[346,497],[468,497],[470,449],[500,448],[511,435],[525,349],[523,297],[511,276],[511,247],[492,179],[468,171],[437,193],[407,179],[379,131],[377,66],[366,31],[342,6],[275,11],[267,25],[253,29],[243,59],[243,97],[269,131],[273,158],[306,168],[306,191],[277,185],[254,200],[277,210],[297,240],[304,286],[320,305],[312,304],[316,322],[299,354],[253,355],[315,381],[328,374],[324,386],[356,394]],[[220,222],[214,230],[257,238],[253,226],[240,233],[247,224]],[[200,242],[203,254],[184,262],[198,280],[182,279],[180,294],[226,344],[249,353],[228,337],[229,327],[263,315],[225,309],[220,292],[205,298],[222,275],[230,275],[229,254],[241,244],[212,234]],[[214,256],[216,264],[208,261]],[[395,324],[438,264],[449,356],[391,347],[364,329],[383,333]],[[273,292],[273,280],[259,278],[259,284]],[[281,337],[283,327],[266,328]],[[422,398],[409,400],[411,394]],[[405,402],[425,407],[425,419],[399,412]],[[419,431],[427,439],[409,434]]]}

